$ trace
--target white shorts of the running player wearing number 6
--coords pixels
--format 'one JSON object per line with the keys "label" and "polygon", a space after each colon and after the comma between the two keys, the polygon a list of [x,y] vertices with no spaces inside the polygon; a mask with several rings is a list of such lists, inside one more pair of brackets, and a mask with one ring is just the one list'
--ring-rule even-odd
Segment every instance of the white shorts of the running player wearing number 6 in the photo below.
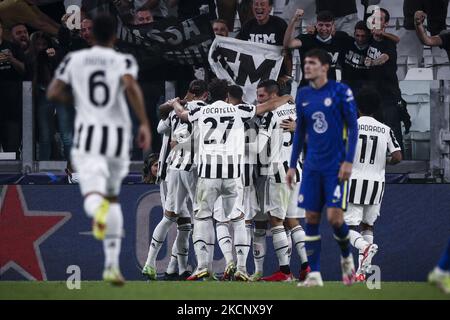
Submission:
{"label": "white shorts of the running player wearing number 6", "polygon": [[72,165],[78,173],[81,194],[98,192],[106,197],[120,193],[130,160],[73,153]]}

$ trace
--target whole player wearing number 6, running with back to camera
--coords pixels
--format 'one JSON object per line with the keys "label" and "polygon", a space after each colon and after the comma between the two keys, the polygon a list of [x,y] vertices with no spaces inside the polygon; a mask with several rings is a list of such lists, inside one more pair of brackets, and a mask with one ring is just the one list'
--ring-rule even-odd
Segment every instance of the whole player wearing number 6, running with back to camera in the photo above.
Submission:
{"label": "whole player wearing number 6, running with back to camera", "polygon": [[119,269],[123,216],[118,202],[120,185],[128,174],[132,138],[128,100],[140,121],[139,147],[150,147],[150,129],[142,91],[136,82],[138,66],[130,55],[114,51],[115,20],[100,15],[94,21],[96,45],[69,54],[49,86],[49,100],[68,102],[72,87],[77,111],[72,164],[79,174],[84,209],[93,218],[93,235],[103,241],[103,279],[122,285]]}

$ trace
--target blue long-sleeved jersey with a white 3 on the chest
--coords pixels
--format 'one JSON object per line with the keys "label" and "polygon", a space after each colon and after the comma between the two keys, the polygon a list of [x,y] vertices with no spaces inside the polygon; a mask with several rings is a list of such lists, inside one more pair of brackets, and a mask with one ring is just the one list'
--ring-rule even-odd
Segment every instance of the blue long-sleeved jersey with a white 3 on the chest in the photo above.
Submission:
{"label": "blue long-sleeved jersey with a white 3 on the chest", "polygon": [[298,90],[296,105],[290,167],[295,168],[304,143],[304,170],[339,170],[342,162],[353,163],[358,123],[352,90],[333,80],[320,89],[306,86]]}

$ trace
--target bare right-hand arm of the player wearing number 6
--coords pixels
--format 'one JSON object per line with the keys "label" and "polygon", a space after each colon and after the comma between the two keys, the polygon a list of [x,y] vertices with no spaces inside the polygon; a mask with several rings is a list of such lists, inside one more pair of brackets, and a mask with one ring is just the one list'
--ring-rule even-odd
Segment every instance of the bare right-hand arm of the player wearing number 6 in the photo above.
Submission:
{"label": "bare right-hand arm of the player wearing number 6", "polygon": [[137,136],[138,145],[143,150],[148,150],[150,149],[152,136],[150,133],[150,124],[145,113],[144,95],[142,94],[141,87],[137,81],[128,74],[122,77],[122,81],[128,100],[140,123]]}

